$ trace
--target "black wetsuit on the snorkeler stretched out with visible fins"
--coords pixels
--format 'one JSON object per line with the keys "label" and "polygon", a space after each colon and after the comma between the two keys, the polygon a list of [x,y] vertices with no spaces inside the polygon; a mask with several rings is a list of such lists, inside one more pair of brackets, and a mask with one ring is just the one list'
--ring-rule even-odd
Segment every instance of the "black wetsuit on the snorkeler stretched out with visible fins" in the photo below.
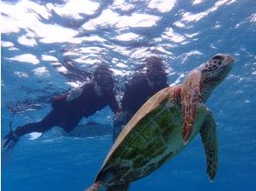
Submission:
{"label": "black wetsuit on the snorkeler stretched out with visible fins", "polygon": [[107,105],[114,113],[118,111],[118,102],[112,90],[98,96],[92,82],[85,83],[81,88],[83,89],[82,95],[69,102],[64,99],[64,102],[55,106],[41,122],[31,122],[20,126],[15,129],[14,133],[22,136],[31,132],[45,132],[54,126],[71,132],[82,117],[93,115]]}

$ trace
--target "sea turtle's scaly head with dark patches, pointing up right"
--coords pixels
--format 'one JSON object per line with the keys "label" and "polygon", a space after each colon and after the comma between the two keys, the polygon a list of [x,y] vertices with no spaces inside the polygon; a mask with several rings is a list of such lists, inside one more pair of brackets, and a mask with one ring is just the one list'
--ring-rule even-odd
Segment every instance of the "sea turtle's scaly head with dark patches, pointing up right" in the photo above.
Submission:
{"label": "sea turtle's scaly head with dark patches, pointing up right", "polygon": [[232,69],[234,59],[232,56],[217,54],[209,61],[199,66],[201,72],[201,85],[205,100],[211,95],[220,82],[222,82]]}

